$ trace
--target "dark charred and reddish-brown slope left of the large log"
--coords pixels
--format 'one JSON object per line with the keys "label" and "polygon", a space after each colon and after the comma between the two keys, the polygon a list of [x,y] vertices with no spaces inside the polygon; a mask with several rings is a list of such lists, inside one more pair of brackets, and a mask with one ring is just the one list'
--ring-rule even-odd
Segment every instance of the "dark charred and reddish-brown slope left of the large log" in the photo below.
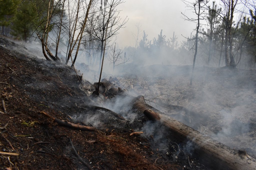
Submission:
{"label": "dark charred and reddish-brown slope left of the large log", "polygon": [[[81,89],[71,68],[12,51],[17,44],[3,37],[1,41],[0,97],[7,112],[0,113],[0,151],[19,156],[0,154],[0,169],[86,169],[69,139],[93,169],[189,169],[189,163],[191,169],[203,166],[167,138],[168,147],[160,148],[154,135],[130,136],[148,123],[144,116],[129,122],[106,112],[82,109],[84,104],[96,105],[98,99],[87,96],[85,92],[90,89]],[[23,50],[25,47],[20,47],[19,51]],[[90,86],[85,80],[83,83]],[[4,111],[2,105],[0,111]],[[77,116],[97,114],[101,124],[95,125],[98,130],[94,132],[74,130],[53,123],[41,111],[89,126]]]}

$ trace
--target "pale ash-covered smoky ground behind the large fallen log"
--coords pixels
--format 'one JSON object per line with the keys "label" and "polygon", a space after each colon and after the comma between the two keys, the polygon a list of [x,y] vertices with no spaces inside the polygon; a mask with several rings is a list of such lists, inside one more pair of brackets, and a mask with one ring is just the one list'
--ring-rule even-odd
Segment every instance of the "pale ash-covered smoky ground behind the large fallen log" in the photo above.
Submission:
{"label": "pale ash-covered smoky ground behind the large fallen log", "polygon": [[231,148],[256,155],[256,71],[196,67],[190,85],[191,69],[137,67],[118,79],[158,110]]}

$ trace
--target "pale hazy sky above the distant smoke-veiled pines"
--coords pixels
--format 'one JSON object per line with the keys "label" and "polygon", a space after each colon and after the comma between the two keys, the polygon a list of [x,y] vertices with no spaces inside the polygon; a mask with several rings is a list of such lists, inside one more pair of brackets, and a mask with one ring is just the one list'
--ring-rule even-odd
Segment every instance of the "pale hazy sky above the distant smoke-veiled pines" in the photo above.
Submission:
{"label": "pale hazy sky above the distant smoke-veiled pines", "polygon": [[[180,42],[184,40],[182,35],[188,37],[196,28],[195,23],[184,21],[181,18],[181,12],[185,12],[186,5],[180,0],[126,0],[119,6],[119,9],[122,10],[120,12],[122,18],[126,16],[129,18],[125,25],[126,28],[119,31],[117,42],[121,48],[133,45],[132,32],[136,32],[135,24],[138,22],[142,24],[141,32],[145,30],[149,40],[153,37],[157,38],[162,29],[166,39],[172,37],[175,31],[177,41]],[[190,12],[186,11],[186,13]]]}

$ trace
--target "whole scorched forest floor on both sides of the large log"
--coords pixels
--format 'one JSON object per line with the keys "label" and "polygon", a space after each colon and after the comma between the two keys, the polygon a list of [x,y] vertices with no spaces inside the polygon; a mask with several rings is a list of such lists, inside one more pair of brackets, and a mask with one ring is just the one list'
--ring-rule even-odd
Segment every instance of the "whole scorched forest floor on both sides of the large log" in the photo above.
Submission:
{"label": "whole scorched forest floor on both sides of the large log", "polygon": [[[5,48],[6,44],[16,51]],[[82,168],[71,150],[71,138],[81,157],[94,169],[207,169],[191,155],[189,143],[172,141],[162,125],[136,113],[129,97],[91,98],[95,88],[88,81],[98,81],[96,71],[77,64],[79,75],[84,75],[81,88],[72,68],[30,58],[28,51],[34,51],[30,56],[40,57],[34,47],[18,47],[4,38],[0,45],[0,91],[7,107],[0,127],[9,123],[1,129],[0,148],[20,154],[9,161],[1,156],[3,168]],[[189,85],[191,66],[127,64],[122,70],[125,74],[104,73],[102,78],[109,80],[112,76],[112,86],[129,90],[131,98],[143,95],[153,107],[180,122],[231,148],[255,154],[255,70],[196,67],[193,85]],[[86,104],[113,110],[127,121],[84,109]],[[40,111],[99,131],[59,127],[42,117]],[[144,133],[130,136],[139,131]]]}

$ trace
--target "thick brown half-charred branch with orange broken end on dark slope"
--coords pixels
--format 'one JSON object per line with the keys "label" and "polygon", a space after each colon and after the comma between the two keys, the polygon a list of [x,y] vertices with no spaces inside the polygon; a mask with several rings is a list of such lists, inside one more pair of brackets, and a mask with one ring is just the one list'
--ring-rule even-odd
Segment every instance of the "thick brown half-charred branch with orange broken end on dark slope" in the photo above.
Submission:
{"label": "thick brown half-charred branch with orange broken end on dark slope", "polygon": [[60,125],[60,126],[65,126],[65,127],[69,127],[69,128],[73,128],[73,129],[77,129],[77,130],[86,130],[86,131],[94,131],[94,130],[96,130],[95,127],[78,125],[78,124],[74,124],[74,123],[67,122],[67,121],[64,121],[64,120],[56,119],[56,118],[50,116],[49,114],[45,113],[44,111],[41,111],[40,113],[42,115],[52,119],[53,122],[58,123],[58,125]]}

